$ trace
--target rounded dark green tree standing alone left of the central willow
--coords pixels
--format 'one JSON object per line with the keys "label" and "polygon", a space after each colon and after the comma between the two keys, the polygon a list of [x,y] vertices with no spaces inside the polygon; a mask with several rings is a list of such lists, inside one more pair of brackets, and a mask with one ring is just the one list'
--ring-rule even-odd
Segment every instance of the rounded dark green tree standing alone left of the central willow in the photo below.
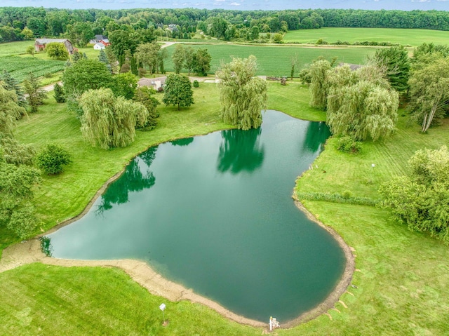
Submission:
{"label": "rounded dark green tree standing alone left of the central willow", "polygon": [[194,104],[194,91],[189,77],[180,74],[169,74],[164,88],[162,102],[165,105],[189,107]]}

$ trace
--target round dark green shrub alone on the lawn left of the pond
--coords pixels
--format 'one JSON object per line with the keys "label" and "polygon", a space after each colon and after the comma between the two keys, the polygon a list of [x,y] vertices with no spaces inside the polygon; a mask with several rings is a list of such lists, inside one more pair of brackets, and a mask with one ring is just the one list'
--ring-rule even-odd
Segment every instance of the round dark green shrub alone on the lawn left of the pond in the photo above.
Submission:
{"label": "round dark green shrub alone on the lawn left of the pond", "polygon": [[36,165],[48,175],[56,175],[62,172],[62,166],[72,162],[72,157],[64,148],[58,145],[46,145],[36,155]]}

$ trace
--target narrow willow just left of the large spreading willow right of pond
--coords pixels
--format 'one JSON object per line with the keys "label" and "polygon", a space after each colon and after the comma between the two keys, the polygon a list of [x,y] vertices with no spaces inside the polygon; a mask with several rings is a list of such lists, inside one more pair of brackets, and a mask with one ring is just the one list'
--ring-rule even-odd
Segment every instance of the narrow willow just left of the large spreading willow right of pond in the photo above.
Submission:
{"label": "narrow willow just left of the large spreading willow right of pond", "polygon": [[326,74],[331,64],[328,60],[317,60],[310,65],[310,106],[319,109],[326,108]]}

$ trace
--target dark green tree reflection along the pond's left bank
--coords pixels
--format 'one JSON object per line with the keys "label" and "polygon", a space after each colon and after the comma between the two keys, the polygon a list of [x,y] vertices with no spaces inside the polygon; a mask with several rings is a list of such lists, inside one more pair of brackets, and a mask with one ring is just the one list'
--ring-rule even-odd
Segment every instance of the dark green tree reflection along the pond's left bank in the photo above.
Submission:
{"label": "dark green tree reflection along the pond's left bank", "polygon": [[[98,213],[112,208],[112,204],[126,203],[129,200],[130,191],[141,191],[151,188],[156,183],[156,177],[148,168],[156,157],[157,147],[152,147],[137,156],[129,163],[123,174],[114,182],[109,184],[104,194],[101,196],[101,203],[98,206]],[[142,169],[139,163],[145,163]],[[143,170],[143,172],[142,172]],[[145,170],[147,170],[145,172]]]}

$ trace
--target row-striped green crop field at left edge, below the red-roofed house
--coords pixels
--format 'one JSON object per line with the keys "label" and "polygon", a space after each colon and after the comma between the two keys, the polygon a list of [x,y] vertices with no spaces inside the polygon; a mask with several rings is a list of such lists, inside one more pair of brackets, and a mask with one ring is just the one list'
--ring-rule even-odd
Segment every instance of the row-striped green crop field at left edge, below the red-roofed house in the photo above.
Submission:
{"label": "row-striped green crop field at left edge, below the red-roofed house", "polygon": [[41,60],[39,58],[20,58],[17,56],[0,58],[0,72],[4,69],[18,81],[23,81],[29,72],[35,76],[53,74],[64,69],[65,62],[57,60]]}

